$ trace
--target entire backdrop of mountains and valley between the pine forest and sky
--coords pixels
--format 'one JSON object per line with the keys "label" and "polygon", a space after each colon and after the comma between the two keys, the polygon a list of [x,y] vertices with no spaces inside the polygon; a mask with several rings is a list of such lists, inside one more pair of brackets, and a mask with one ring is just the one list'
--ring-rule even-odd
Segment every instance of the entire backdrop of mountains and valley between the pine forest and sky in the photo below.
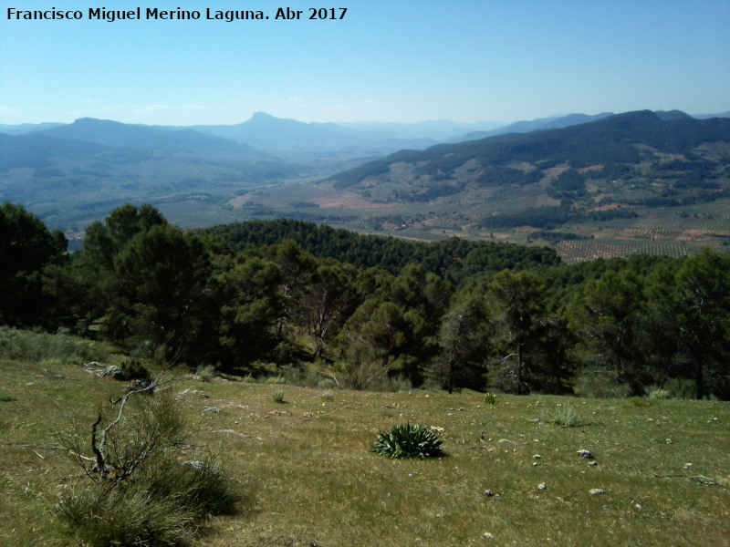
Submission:
{"label": "entire backdrop of mountains and valley between the pine forest and sky", "polygon": [[[257,113],[195,128],[99,119],[0,126],[0,201],[24,203],[68,232],[132,201],[183,226],[293,217],[571,249],[597,234],[634,234],[611,239],[605,255],[640,248],[636,234],[647,232],[652,249],[672,241],[672,253],[685,253],[730,244],[728,117],[644,110],[494,128]],[[659,219],[656,231],[649,218]]]}

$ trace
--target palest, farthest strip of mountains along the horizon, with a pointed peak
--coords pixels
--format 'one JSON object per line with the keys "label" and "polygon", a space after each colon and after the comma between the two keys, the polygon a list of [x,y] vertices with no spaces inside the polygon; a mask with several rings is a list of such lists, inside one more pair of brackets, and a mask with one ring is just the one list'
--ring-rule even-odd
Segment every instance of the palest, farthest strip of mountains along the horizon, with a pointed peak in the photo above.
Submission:
{"label": "palest, farthest strip of mountains along the horizon, with a pointed peak", "polygon": [[[673,110],[657,115],[686,114]],[[494,122],[458,123],[446,119],[416,123],[305,123],[296,119],[280,119],[264,112],[256,112],[251,119],[235,125],[208,125],[193,127],[146,126],[82,118],[71,124],[39,123],[2,125],[0,133],[22,135],[42,133],[48,137],[77,139],[111,147],[160,150],[204,150],[236,152],[234,140],[246,145],[247,151],[259,149],[274,152],[337,151],[351,152],[354,156],[387,154],[404,149],[425,149],[442,142],[463,142],[484,139],[508,133],[527,133],[536,130],[561,129],[613,116],[611,112],[595,115],[568,114],[550,118],[517,121],[509,125]],[[718,115],[695,118],[728,118],[730,111]],[[204,139],[218,137],[220,139]]]}

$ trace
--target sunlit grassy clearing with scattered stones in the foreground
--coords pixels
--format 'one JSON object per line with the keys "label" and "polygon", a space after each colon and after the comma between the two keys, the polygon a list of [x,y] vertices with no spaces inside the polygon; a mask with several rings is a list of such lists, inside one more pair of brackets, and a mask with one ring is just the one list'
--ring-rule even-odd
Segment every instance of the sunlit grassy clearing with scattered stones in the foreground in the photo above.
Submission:
{"label": "sunlit grassy clearing with scattered stones in the foreground", "polygon": [[[52,544],[50,507],[78,477],[55,435],[86,434],[120,393],[81,363],[51,370],[0,357],[11,399],[0,401],[4,547]],[[193,544],[728,544],[726,404],[499,395],[492,405],[473,392],[291,386],[276,402],[271,386],[209,380],[181,377],[172,390],[193,428],[191,452],[222,449],[245,503]],[[572,427],[556,423],[561,408],[574,410]],[[406,422],[443,428],[444,456],[372,453],[379,432]]]}

